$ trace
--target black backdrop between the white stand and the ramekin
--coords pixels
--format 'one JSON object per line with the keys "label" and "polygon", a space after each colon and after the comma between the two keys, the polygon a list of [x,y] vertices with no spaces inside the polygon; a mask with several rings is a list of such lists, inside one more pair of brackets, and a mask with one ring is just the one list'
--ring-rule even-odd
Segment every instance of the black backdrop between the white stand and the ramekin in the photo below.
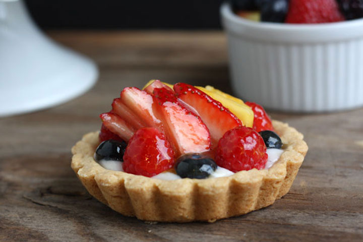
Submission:
{"label": "black backdrop between the white stand and the ramekin", "polygon": [[26,0],[46,29],[218,29],[223,0]]}

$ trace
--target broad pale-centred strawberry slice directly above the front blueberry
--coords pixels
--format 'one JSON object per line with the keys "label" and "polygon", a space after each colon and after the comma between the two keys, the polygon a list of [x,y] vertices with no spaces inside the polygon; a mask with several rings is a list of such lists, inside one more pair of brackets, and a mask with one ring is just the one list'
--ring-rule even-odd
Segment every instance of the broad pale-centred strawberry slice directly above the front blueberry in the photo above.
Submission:
{"label": "broad pale-centred strawberry slice directly above the front blueberry", "polygon": [[210,149],[208,128],[198,115],[178,102],[174,93],[166,88],[155,88],[154,96],[163,117],[165,133],[175,147],[176,155]]}

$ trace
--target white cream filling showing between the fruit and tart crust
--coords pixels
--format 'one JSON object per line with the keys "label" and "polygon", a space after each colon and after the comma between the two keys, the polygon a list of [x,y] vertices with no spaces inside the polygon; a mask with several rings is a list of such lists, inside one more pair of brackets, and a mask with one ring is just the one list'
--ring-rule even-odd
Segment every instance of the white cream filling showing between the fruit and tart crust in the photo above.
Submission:
{"label": "white cream filling showing between the fruit and tart crust", "polygon": [[[278,161],[278,159],[280,158],[280,156],[283,152],[284,151],[281,149],[272,149],[272,148],[267,149],[266,153],[268,155],[268,159],[267,159],[265,169],[269,169],[276,161]],[[124,171],[124,169],[122,167],[123,162],[120,162],[117,160],[104,160],[103,159],[103,160],[100,160],[98,163],[108,170]],[[203,168],[203,166],[202,166],[202,168]],[[205,168],[209,169],[210,167],[207,166]],[[225,177],[225,176],[230,176],[233,174],[234,174],[233,171],[230,171],[223,167],[217,166],[217,169],[215,171],[213,171],[209,177]],[[160,174],[154,175],[151,178],[161,179],[161,180],[176,180],[181,177],[178,176],[177,174],[166,171],[166,172],[162,172]]]}

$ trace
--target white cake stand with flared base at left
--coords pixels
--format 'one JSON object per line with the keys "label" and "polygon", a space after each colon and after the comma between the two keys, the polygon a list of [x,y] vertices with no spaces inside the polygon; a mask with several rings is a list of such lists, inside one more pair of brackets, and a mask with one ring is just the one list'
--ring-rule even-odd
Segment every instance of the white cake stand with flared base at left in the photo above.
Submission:
{"label": "white cake stand with flared base at left", "polygon": [[66,102],[90,89],[98,71],[85,56],[47,38],[22,1],[0,0],[0,116]]}

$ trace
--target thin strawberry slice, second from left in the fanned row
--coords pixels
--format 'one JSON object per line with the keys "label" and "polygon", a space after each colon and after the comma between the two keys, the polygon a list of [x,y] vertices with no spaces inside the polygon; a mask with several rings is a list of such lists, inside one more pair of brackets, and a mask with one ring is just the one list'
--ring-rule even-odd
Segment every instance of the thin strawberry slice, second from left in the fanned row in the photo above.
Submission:
{"label": "thin strawberry slice, second from left in the fanned row", "polygon": [[116,113],[136,130],[146,126],[144,122],[122,102],[121,98],[113,99],[112,112]]}

